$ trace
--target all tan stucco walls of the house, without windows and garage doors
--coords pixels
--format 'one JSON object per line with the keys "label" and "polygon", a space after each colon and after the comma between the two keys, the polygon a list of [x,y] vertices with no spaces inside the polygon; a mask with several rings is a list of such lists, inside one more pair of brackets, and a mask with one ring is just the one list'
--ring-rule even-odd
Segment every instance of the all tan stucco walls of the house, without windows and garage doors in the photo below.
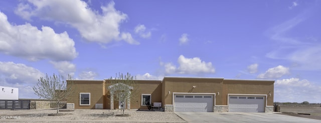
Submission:
{"label": "all tan stucco walls of the house, without windows and garage doors", "polygon": [[[104,109],[110,109],[110,96],[107,88],[110,83],[108,84],[108,80],[105,82],[103,80],[76,80],[74,96],[67,103],[75,103],[75,109],[95,109],[97,103],[103,104]],[[193,86],[196,87],[193,88]],[[130,109],[147,109],[146,106],[141,106],[141,94],[151,94],[151,103],[162,102],[163,108],[164,105],[173,105],[173,93],[215,93],[216,105],[228,105],[228,94],[268,95],[270,93],[271,97],[267,96],[267,106],[272,106],[274,81],[165,77],[163,81],[137,80],[134,90],[133,97],[130,99]],[[79,93],[91,93],[90,106],[79,105]],[[114,109],[118,109],[116,100],[114,100]]]}

